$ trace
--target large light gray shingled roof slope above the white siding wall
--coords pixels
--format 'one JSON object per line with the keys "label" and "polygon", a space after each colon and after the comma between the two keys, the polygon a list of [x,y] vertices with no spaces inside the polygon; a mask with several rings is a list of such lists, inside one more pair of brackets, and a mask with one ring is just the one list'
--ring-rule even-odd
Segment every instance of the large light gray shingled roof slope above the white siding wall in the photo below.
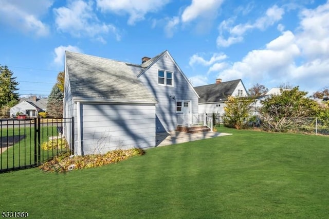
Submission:
{"label": "large light gray shingled roof slope above the white siding wall", "polygon": [[155,103],[127,63],[66,51],[73,98]]}

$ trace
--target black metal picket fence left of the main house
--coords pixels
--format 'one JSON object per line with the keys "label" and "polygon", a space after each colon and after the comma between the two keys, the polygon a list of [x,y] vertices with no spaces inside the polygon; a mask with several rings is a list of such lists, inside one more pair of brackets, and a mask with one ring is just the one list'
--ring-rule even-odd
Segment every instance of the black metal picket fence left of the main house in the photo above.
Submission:
{"label": "black metal picket fence left of the main house", "polygon": [[73,153],[73,136],[74,118],[0,120],[0,173],[36,167],[59,154]]}

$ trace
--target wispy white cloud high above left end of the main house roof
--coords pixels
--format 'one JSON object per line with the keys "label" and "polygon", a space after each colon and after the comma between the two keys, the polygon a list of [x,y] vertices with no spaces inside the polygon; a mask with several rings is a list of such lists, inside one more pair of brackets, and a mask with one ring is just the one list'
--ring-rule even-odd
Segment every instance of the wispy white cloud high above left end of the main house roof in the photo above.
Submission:
{"label": "wispy white cloud high above left end of the main house roof", "polygon": [[60,7],[53,11],[56,16],[57,29],[60,31],[68,32],[76,37],[89,36],[102,39],[102,43],[104,43],[104,39],[100,38],[100,35],[112,33],[116,40],[120,40],[120,34],[114,25],[99,21],[93,11],[92,2],[73,1],[67,7]]}

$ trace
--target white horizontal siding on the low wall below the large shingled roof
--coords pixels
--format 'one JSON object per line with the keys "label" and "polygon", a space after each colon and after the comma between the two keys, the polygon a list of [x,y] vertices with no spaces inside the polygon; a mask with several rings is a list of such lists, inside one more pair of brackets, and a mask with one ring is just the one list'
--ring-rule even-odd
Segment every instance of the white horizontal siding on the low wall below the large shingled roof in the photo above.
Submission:
{"label": "white horizontal siding on the low wall below the large shingled roof", "polygon": [[155,145],[154,105],[81,104],[83,154]]}

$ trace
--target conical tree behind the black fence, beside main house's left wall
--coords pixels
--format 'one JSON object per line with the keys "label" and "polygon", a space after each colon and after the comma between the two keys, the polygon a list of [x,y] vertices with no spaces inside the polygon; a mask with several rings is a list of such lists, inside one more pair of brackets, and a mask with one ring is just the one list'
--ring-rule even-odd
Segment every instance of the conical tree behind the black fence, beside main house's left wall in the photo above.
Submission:
{"label": "conical tree behind the black fence, beside main house's left wall", "polygon": [[63,117],[63,93],[55,84],[50,92],[47,102],[47,113],[53,117]]}

